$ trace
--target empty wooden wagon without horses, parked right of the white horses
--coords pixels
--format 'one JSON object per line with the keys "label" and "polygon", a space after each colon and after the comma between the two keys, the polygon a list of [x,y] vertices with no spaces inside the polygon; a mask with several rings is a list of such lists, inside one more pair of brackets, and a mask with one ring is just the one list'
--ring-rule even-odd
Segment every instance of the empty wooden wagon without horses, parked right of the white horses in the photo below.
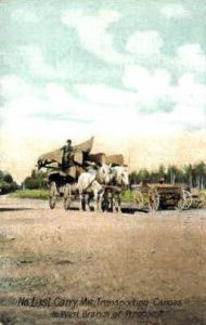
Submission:
{"label": "empty wooden wagon without horses, parked right of the white horses", "polygon": [[133,200],[138,208],[150,210],[165,209],[168,207],[178,210],[189,209],[192,205],[192,195],[182,184],[150,184],[142,182],[136,186]]}

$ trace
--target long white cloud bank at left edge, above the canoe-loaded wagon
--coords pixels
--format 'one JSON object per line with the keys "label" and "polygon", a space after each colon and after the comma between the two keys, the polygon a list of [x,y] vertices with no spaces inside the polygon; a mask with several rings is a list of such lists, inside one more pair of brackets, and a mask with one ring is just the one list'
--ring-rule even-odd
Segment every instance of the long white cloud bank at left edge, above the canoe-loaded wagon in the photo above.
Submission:
{"label": "long white cloud bank at left edge, above the canoe-loaded wagon", "polygon": [[[7,126],[11,134],[15,130],[18,134],[28,133],[33,136],[35,123],[38,123],[39,129],[42,128],[42,132],[46,132],[49,125],[55,125],[55,122],[60,125],[61,121],[67,122],[67,129],[70,123],[82,126],[83,122],[86,128],[92,126],[95,132],[100,131],[100,123],[105,122],[106,126],[103,129],[105,131],[106,128],[114,129],[114,120],[117,116],[121,119],[121,116],[126,115],[126,112],[119,113],[118,103],[115,109],[112,109],[112,103],[111,105],[107,103],[107,106],[103,106],[100,101],[91,103],[86,99],[74,96],[65,87],[56,82],[49,82],[44,88],[38,88],[12,75],[5,76],[1,86],[5,99],[1,118],[3,126]],[[110,89],[108,92],[111,94],[114,92],[116,99],[120,93],[120,91],[115,92]],[[126,99],[127,95],[126,93]],[[101,99],[103,100],[103,96]],[[79,127],[76,130],[79,130]]]}

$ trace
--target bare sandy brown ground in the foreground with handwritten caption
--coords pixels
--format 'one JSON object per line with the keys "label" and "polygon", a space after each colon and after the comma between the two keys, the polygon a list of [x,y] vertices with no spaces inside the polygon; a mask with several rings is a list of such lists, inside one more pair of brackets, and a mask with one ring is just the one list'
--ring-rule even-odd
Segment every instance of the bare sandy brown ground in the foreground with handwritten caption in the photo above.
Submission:
{"label": "bare sandy brown ground in the foreground with handwritten caption", "polygon": [[0,221],[1,324],[206,324],[205,209],[81,212],[1,196]]}

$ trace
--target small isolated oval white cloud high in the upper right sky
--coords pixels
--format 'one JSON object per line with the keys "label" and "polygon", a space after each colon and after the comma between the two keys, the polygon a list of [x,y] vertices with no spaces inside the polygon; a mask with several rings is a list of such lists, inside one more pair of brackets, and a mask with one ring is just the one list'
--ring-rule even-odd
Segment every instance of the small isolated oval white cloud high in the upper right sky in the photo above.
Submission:
{"label": "small isolated oval white cloud high in the upper right sky", "polygon": [[156,30],[136,31],[127,41],[126,50],[138,55],[159,54],[163,40]]}

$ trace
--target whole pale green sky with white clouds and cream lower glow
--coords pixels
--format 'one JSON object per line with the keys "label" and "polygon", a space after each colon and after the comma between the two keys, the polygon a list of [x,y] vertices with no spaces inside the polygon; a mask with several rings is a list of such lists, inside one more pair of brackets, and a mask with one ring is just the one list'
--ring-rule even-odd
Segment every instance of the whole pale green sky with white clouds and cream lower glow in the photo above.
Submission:
{"label": "whole pale green sky with white clouds and cream lower glow", "polygon": [[130,169],[206,160],[206,1],[1,0],[0,169],[94,135]]}

